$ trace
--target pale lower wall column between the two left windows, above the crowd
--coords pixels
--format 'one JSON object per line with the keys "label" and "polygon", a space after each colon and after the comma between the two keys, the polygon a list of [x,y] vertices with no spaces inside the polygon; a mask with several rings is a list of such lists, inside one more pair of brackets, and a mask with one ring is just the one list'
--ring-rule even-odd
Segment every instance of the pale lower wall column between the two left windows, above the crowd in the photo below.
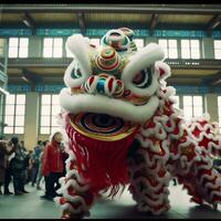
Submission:
{"label": "pale lower wall column between the two left windows, above the crowd", "polygon": [[39,105],[39,93],[27,93],[27,109],[24,119],[24,144],[27,149],[33,149],[38,141]]}

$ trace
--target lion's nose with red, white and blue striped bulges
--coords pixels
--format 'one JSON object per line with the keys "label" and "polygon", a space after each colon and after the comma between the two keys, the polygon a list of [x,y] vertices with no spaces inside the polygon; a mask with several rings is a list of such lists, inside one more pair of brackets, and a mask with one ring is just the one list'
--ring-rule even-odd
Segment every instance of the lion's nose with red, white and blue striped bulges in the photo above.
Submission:
{"label": "lion's nose with red, white and blue striped bulges", "polygon": [[124,83],[113,75],[103,73],[91,76],[84,84],[84,90],[90,94],[120,97],[124,94]]}

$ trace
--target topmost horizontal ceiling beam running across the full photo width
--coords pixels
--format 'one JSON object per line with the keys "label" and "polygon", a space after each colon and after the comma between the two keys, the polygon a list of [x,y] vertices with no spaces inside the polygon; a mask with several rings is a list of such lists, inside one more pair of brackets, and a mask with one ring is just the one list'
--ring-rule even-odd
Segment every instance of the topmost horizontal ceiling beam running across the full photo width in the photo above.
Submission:
{"label": "topmost horizontal ceiling beam running across the full photo width", "polygon": [[173,14],[219,14],[221,4],[2,4],[1,12],[130,12],[130,13],[173,13]]}

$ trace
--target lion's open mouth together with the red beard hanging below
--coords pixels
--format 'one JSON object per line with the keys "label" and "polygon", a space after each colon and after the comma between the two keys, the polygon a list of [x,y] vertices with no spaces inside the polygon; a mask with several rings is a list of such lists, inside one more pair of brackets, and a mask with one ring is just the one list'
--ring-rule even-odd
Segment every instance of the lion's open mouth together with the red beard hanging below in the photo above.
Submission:
{"label": "lion's open mouth together with the red beard hanging below", "polygon": [[66,133],[78,172],[94,191],[127,183],[127,155],[138,124],[107,114],[80,113],[67,117]]}

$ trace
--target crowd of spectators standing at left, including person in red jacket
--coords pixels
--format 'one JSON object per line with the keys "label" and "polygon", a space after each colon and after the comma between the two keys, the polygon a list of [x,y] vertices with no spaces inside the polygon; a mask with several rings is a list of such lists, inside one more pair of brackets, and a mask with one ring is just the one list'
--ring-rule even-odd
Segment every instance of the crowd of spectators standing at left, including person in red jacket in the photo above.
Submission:
{"label": "crowd of spectators standing at left, including person in red jacket", "polygon": [[[53,200],[59,196],[59,179],[65,176],[63,135],[54,133],[50,140],[38,140],[33,149],[27,149],[18,137],[0,140],[0,194],[29,193],[27,185],[44,190],[41,199]],[[11,188],[11,186],[12,188]],[[11,189],[13,191],[11,191]]]}

